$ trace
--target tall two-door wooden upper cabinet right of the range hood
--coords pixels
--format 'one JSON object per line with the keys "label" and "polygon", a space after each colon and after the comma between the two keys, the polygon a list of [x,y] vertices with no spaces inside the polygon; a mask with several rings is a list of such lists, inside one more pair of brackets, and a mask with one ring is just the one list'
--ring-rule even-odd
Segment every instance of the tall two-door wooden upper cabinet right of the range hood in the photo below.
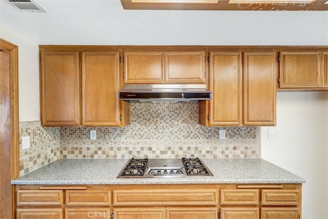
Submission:
{"label": "tall two-door wooden upper cabinet right of the range hood", "polygon": [[274,126],[276,52],[210,51],[212,101],[199,103],[204,126]]}

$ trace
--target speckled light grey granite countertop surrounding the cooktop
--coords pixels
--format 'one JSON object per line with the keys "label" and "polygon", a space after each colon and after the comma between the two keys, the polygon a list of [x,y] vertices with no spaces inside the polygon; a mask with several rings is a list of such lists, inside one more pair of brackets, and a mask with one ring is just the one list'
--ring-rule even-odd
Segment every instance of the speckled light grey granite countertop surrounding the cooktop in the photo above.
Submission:
{"label": "speckled light grey granite countertop surrounding the cooktop", "polygon": [[214,176],[117,178],[128,160],[60,159],[12,180],[11,183],[20,185],[305,183],[303,178],[261,158],[202,158],[203,163]]}

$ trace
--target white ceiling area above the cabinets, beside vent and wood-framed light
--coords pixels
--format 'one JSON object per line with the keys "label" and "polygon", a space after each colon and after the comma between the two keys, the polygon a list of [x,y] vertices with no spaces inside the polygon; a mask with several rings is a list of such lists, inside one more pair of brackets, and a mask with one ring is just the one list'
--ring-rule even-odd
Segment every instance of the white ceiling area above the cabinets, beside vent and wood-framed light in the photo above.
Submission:
{"label": "white ceiling area above the cabinets, beside vent and wood-framed light", "polygon": [[32,13],[5,1],[2,27],[37,44],[328,45],[328,11],[124,10],[119,0],[36,0],[47,13]]}

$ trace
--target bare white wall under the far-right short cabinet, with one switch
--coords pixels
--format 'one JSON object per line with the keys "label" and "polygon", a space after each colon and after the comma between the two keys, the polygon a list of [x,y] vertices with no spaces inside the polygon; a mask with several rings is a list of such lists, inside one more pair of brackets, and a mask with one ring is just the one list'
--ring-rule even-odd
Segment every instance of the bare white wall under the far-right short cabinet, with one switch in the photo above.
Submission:
{"label": "bare white wall under the far-right short cabinet, with one switch", "polygon": [[261,128],[261,157],[305,178],[303,218],[328,218],[327,154],[328,92],[278,92],[277,126]]}

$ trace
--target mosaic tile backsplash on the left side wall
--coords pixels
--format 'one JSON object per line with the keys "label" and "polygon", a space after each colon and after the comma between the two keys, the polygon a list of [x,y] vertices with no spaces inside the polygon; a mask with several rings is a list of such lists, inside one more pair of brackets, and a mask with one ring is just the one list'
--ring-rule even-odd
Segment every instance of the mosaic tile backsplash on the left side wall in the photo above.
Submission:
{"label": "mosaic tile backsplash on the left side wall", "polygon": [[[22,147],[22,137],[30,136],[30,148]],[[41,127],[40,122],[19,123],[19,175],[36,170],[60,157],[59,128]]]}

